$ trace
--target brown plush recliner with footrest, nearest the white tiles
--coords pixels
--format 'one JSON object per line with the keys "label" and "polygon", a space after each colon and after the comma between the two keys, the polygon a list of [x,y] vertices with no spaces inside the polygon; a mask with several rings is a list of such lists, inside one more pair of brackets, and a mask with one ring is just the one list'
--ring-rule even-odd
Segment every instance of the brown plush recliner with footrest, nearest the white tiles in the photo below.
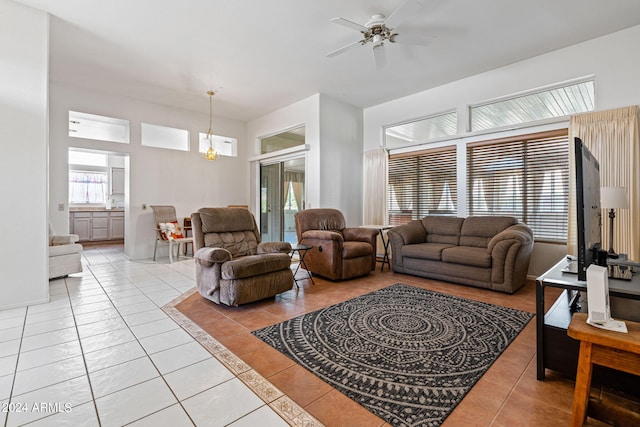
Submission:
{"label": "brown plush recliner with footrest, nearest the white tiles", "polygon": [[191,214],[200,295],[237,306],[293,288],[291,245],[262,242],[246,209],[202,208]]}

